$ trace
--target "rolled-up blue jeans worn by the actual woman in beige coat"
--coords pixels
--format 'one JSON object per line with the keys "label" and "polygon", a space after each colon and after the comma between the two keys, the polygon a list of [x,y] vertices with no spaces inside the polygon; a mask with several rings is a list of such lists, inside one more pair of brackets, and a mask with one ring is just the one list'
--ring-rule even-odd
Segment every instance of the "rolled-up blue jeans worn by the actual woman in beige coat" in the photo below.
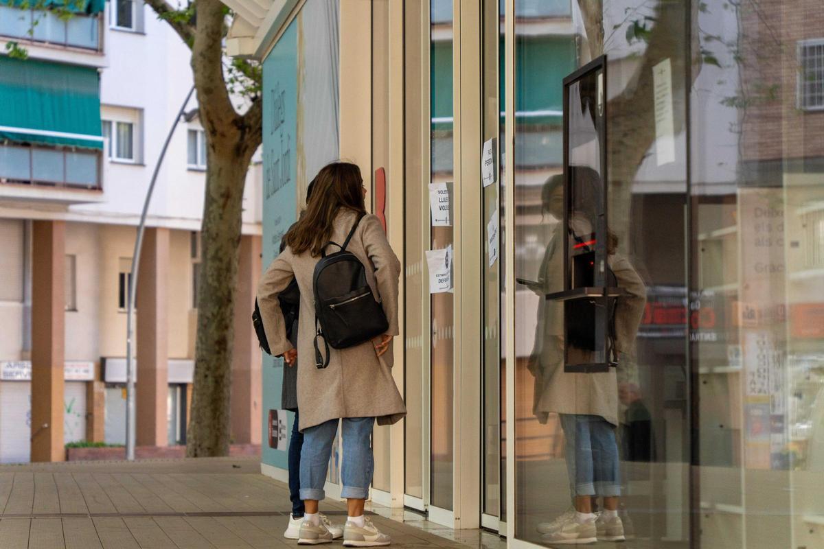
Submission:
{"label": "rolled-up blue jeans worn by the actual woman in beige coat", "polygon": [[[338,421],[330,420],[303,430],[301,453],[301,499],[322,500],[323,486],[332,453],[332,443],[338,432]],[[340,476],[342,498],[366,499],[375,462],[372,458],[372,426],[374,417],[344,417],[344,467]]]}

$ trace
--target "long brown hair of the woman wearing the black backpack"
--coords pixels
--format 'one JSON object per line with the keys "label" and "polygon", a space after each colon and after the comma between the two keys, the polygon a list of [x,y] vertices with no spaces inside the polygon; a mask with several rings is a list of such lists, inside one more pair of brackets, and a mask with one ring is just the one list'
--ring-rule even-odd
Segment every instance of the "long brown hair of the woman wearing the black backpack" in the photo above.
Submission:
{"label": "long brown hair of the woman wearing the black backpack", "polygon": [[332,162],[315,176],[306,212],[283,236],[293,254],[321,255],[332,238],[333,223],[341,209],[366,213],[360,168],[349,162]]}

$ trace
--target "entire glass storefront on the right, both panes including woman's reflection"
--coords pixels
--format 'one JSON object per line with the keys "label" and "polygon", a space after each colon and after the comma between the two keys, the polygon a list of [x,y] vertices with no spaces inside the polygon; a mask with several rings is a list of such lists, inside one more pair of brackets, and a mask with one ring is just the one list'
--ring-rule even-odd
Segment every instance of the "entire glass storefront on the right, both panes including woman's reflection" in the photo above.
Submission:
{"label": "entire glass storefront on the right, both panes including woman's reflection", "polygon": [[[552,547],[564,509],[615,509],[628,547],[822,547],[818,6],[516,4],[516,537]],[[564,136],[588,110],[560,97],[602,55],[604,244],[624,290],[602,336],[620,352],[569,373],[579,309],[545,294],[578,242],[564,184],[592,139]],[[603,541],[605,517],[580,531]]]}

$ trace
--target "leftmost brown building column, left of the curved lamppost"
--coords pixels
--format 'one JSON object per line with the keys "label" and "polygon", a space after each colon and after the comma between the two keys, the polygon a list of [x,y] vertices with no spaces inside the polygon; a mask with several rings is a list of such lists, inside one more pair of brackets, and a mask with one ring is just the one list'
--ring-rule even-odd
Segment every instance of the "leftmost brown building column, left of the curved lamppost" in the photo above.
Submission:
{"label": "leftmost brown building column, left of the curved lamppost", "polygon": [[32,226],[31,461],[63,461],[66,223]]}

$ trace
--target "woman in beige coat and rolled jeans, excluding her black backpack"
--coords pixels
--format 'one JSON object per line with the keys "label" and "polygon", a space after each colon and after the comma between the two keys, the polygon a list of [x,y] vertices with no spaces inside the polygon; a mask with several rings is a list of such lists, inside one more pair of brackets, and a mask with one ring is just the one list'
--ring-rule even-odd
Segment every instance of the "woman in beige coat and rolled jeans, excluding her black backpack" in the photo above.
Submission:
{"label": "woman in beige coat and rolled jeans, excluding her black backpack", "polygon": [[[284,235],[283,253],[269,265],[258,288],[258,303],[269,347],[275,356],[292,364],[297,356],[314,356],[316,318],[312,287],[315,266],[326,244],[343,243],[352,234],[347,251],[366,267],[368,285],[381,301],[389,328],[382,336],[354,347],[331,349],[329,365],[316,368],[301,361],[297,368],[297,405],[303,432],[301,499],[306,513],[298,543],[331,542],[332,534],[318,514],[326,470],[339,421],[343,430],[343,489],[349,519],[344,526],[344,546],[386,546],[383,534],[363,516],[372,483],[371,435],[379,425],[399,421],[406,414],[403,399],[391,375],[392,337],[398,334],[398,281],[400,262],[392,251],[381,221],[368,215],[363,199],[366,188],[357,165],[334,162],[316,176],[311,199],[300,221]],[[330,251],[334,248],[330,244]],[[297,348],[286,337],[279,292],[295,278],[301,291]]]}

